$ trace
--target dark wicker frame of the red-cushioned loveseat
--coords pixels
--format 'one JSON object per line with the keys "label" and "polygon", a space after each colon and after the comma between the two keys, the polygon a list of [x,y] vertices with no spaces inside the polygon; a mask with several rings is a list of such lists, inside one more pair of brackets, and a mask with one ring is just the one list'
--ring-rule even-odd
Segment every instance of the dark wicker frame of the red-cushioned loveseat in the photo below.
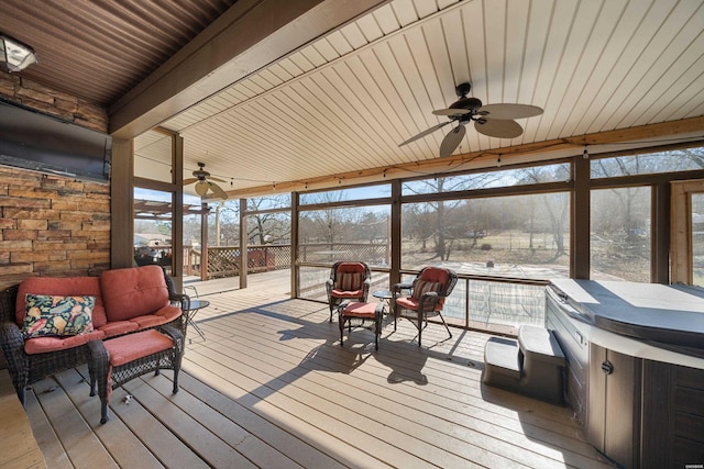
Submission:
{"label": "dark wicker frame of the red-cushioned loveseat", "polygon": [[[170,301],[174,303],[180,302],[183,295],[176,294],[172,278],[166,273],[164,273],[164,277]],[[24,336],[15,317],[19,287],[19,284],[15,284],[0,291],[0,346],[8,362],[8,370],[12,377],[12,384],[20,398],[20,402],[24,404],[24,390],[28,386],[79,365],[88,364],[90,376],[95,378],[89,346],[94,347],[94,353],[101,351],[101,349],[105,350],[100,331],[87,333],[85,337],[80,337],[78,340],[80,343],[72,347],[46,353],[28,354],[25,351]],[[162,325],[175,327],[182,331],[185,336],[186,314],[182,314],[176,320]],[[81,342],[81,339],[85,340]]]}

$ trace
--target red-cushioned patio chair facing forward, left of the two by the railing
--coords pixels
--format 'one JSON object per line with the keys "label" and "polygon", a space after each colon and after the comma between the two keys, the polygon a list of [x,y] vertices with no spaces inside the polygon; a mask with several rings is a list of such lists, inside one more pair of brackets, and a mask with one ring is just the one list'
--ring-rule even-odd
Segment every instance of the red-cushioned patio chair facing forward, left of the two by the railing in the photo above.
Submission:
{"label": "red-cushioned patio chair facing forward, left of the two by the railing", "polygon": [[338,261],[330,269],[330,278],[326,281],[330,322],[332,311],[344,300],[366,302],[370,293],[372,271],[366,263]]}

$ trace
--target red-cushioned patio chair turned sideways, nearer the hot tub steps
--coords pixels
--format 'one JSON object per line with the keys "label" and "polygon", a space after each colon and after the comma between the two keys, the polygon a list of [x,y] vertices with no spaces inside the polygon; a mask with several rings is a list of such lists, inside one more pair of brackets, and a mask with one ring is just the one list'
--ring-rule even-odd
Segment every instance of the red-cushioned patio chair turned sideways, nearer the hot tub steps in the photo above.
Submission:
{"label": "red-cushioned patio chair turned sideways, nearer the hot tub steps", "polygon": [[[418,328],[418,346],[420,347],[420,336],[428,326],[428,317],[440,316],[442,324],[450,337],[452,333],[444,322],[441,311],[444,300],[452,293],[454,284],[458,282],[458,275],[452,269],[442,267],[425,267],[413,283],[396,283],[392,289],[394,294],[394,331],[398,317],[409,320]],[[410,294],[404,291],[410,290]]]}

